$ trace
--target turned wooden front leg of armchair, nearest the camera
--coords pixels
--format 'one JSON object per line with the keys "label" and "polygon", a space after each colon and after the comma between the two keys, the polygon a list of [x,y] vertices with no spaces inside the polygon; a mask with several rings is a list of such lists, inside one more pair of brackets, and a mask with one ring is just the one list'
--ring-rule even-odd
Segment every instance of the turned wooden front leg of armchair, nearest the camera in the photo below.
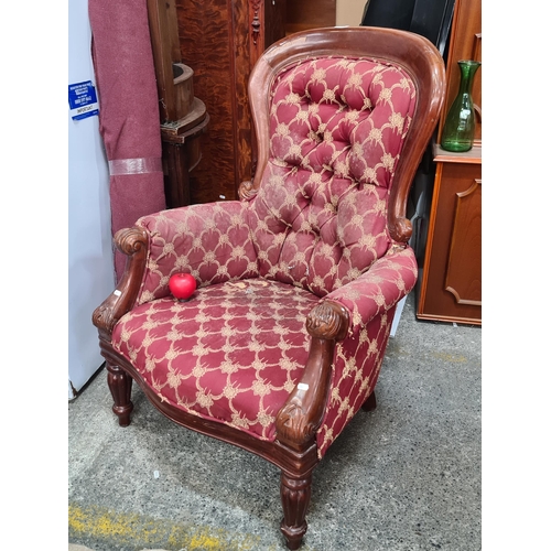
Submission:
{"label": "turned wooden front leg of armchair, nearest the camera", "polygon": [[287,547],[299,549],[306,533],[306,511],[312,495],[312,473],[304,478],[294,478],[281,473],[281,503],[283,520],[281,531],[287,539]]}

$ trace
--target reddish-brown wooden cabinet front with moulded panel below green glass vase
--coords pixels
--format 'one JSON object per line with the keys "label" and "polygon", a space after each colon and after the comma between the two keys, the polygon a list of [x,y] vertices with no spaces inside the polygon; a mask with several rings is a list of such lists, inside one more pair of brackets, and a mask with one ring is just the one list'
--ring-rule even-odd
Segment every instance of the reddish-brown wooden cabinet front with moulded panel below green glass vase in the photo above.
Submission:
{"label": "reddish-brown wooden cabinet front with moulded panel below green glass vase", "polygon": [[480,165],[439,163],[418,317],[482,322]]}

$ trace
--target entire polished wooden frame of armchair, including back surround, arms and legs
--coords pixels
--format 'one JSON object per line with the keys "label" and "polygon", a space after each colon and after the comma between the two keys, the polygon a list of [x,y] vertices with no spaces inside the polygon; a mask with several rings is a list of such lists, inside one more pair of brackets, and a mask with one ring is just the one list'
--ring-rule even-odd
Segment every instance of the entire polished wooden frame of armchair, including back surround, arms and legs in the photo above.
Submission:
{"label": "entire polished wooden frame of armchair, including back surround, arms and legs", "polygon": [[[388,60],[404,67],[413,77],[420,99],[395,175],[388,215],[391,236],[397,241],[406,242],[411,235],[411,224],[406,218],[407,196],[437,121],[444,83],[440,54],[429,41],[414,34],[389,29],[331,28],[296,33],[270,47],[257,63],[249,83],[255,130],[259,137],[259,163],[255,180],[241,184],[240,197],[247,201],[256,194],[268,160],[267,90],[274,75],[288,64],[326,54]],[[133,307],[138,298],[147,267],[149,236],[138,227],[122,229],[115,236],[115,242],[127,255],[127,267],[116,291],[94,312],[93,322],[98,328],[100,350],[106,359],[108,383],[114,398],[112,409],[119,424],[126,426],[130,423],[130,395],[132,380],[136,380],[153,406],[175,423],[237,445],[277,465],[281,468],[281,531],[288,548],[298,549],[306,532],[305,516],[311,497],[312,472],[318,463],[315,434],[328,399],[334,348],[348,331],[347,311],[328,300],[311,311],[306,320],[311,347],[301,381],[277,414],[276,441],[261,441],[231,426],[185,413],[160,400],[136,368],[114,349],[112,328]],[[363,408],[371,410],[375,407],[375,395],[371,393]]]}

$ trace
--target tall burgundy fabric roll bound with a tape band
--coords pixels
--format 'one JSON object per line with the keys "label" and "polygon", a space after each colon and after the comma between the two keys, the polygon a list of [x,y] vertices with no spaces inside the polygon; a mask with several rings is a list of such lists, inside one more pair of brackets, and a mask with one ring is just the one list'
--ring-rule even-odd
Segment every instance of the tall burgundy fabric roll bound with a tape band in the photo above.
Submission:
{"label": "tall burgundy fabric roll bound with a tape band", "polygon": [[[88,13],[115,235],[166,206],[159,97],[147,0],[89,0]],[[118,280],[123,268],[116,251]]]}

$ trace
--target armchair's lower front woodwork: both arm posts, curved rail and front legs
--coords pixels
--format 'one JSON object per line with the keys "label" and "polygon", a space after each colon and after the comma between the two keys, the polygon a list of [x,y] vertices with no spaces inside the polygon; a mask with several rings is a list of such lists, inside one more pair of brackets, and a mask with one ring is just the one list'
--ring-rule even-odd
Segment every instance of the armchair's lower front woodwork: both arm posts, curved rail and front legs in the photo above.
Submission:
{"label": "armchair's lower front woodwork: both arm posts, curved rail and front legs", "polygon": [[[301,383],[290,393],[276,419],[274,442],[258,440],[231,426],[186,413],[163,401],[143,381],[134,366],[111,345],[117,321],[131,310],[140,290],[148,260],[149,236],[138,227],[121,229],[115,236],[117,248],[127,255],[125,276],[115,292],[96,309],[94,325],[106,359],[107,381],[114,399],[112,411],[121,426],[130,424],[133,404],[130,400],[136,380],[153,406],[175,423],[255,453],[281,468],[281,531],[289,549],[298,549],[306,532],[305,516],[310,504],[312,471],[318,463],[315,441],[332,372],[333,352],[348,331],[348,313],[339,304],[325,301],[312,309],[306,329],[312,336],[310,355]],[[368,400],[374,404],[374,397]],[[366,402],[367,404],[367,402]],[[368,407],[368,406],[366,406]]]}

